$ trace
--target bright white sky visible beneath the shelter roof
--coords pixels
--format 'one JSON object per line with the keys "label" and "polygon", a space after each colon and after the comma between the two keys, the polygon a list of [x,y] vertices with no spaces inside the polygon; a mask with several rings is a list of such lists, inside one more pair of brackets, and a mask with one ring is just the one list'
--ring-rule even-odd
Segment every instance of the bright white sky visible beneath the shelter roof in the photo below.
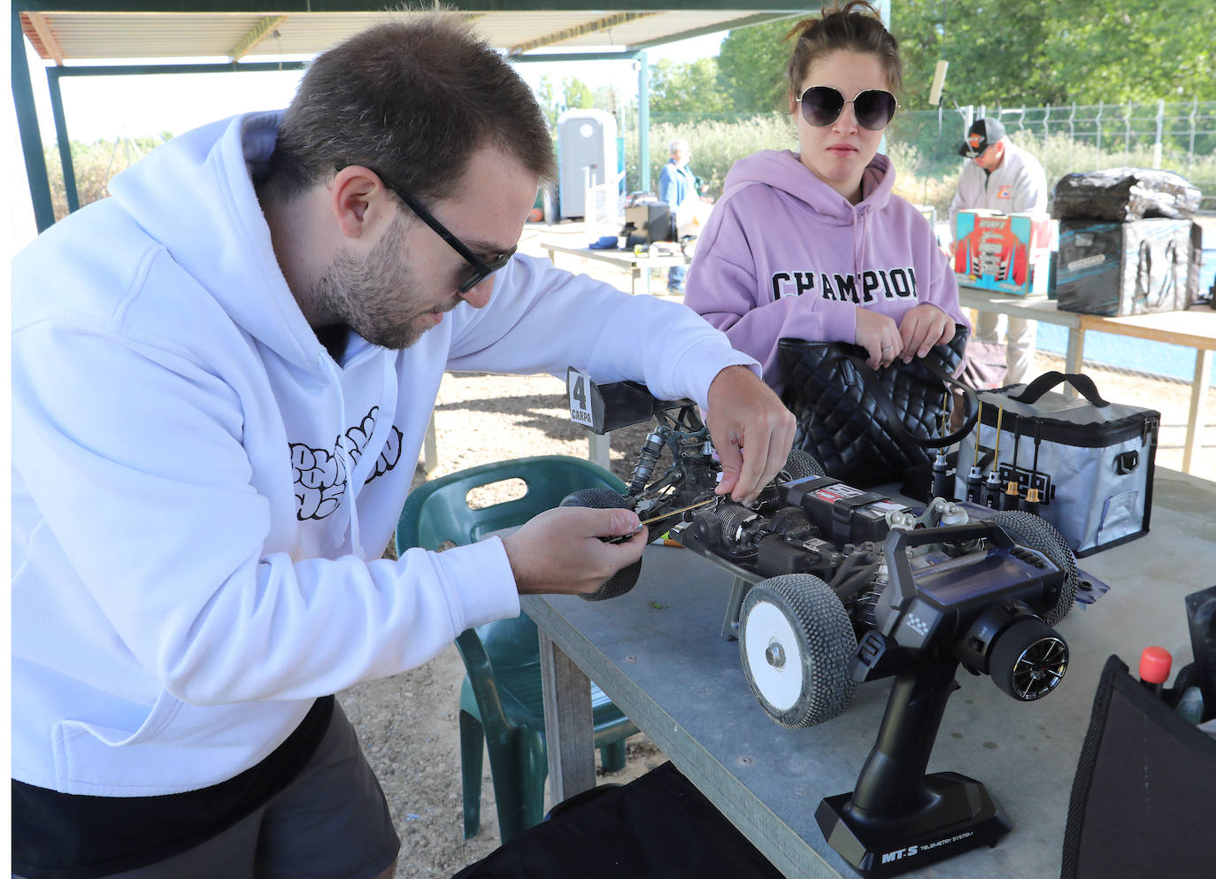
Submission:
{"label": "bright white sky visible beneath the shelter roof", "polygon": [[[647,51],[654,63],[670,58],[686,63],[716,56],[726,32],[681,40]],[[26,43],[30,80],[38,106],[39,130],[44,143],[55,142],[50,94],[44,62]],[[607,49],[607,47],[606,47]],[[148,63],[164,63],[159,58]],[[197,58],[182,58],[198,63]],[[208,61],[223,62],[224,58]],[[134,60],[131,63],[140,63]],[[554,85],[565,77],[576,77],[592,89],[621,86],[636,94],[637,74],[629,61],[606,62],[528,62],[517,66],[519,74],[534,89],[547,74]],[[299,71],[269,73],[199,73],[133,77],[64,77],[60,79],[68,136],[81,142],[112,140],[120,135],[142,137],[162,131],[182,134],[197,125],[235,113],[283,107],[291,101]]]}

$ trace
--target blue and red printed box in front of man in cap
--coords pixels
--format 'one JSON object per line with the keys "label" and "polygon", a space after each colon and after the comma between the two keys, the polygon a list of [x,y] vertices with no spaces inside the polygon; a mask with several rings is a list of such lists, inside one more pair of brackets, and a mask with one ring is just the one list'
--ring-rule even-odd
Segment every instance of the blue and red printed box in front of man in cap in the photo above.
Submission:
{"label": "blue and red printed box in front of man in cap", "polygon": [[1047,214],[959,210],[955,218],[959,283],[1013,293],[1047,293],[1052,219]]}

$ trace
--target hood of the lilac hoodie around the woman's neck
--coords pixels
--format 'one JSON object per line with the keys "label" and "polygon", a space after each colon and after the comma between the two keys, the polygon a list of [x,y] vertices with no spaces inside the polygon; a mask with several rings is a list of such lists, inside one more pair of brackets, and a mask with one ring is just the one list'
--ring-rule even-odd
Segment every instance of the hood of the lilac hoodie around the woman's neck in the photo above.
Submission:
{"label": "hood of the lilac hoodie around the woman's neck", "polygon": [[851,226],[856,215],[882,210],[891,199],[895,173],[891,160],[878,153],[861,175],[862,199],[849,199],[820,180],[790,150],[764,150],[739,159],[726,175],[726,195],[747,184],[764,184],[784,192],[811,208],[815,218],[831,226]]}

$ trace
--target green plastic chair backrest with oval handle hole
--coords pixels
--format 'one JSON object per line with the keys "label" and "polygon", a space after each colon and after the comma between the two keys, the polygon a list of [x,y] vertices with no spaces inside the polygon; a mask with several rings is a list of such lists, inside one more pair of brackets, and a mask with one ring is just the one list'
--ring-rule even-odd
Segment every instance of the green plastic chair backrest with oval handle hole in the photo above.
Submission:
{"label": "green plastic chair backrest with oval handle hole", "polygon": [[[469,491],[507,479],[522,479],[527,494],[482,509],[468,506]],[[572,491],[598,486],[620,492],[626,488],[602,467],[564,455],[514,458],[450,473],[410,492],[396,523],[396,551],[400,554],[416,546],[437,550],[449,540],[457,546],[474,543],[558,506]]]}

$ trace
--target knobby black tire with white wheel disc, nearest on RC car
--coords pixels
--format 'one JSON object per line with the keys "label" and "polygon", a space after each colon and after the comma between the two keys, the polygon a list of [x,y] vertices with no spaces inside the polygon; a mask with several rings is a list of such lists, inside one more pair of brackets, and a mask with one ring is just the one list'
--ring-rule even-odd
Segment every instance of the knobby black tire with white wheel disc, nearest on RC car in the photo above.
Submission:
{"label": "knobby black tire with white wheel disc, nearest on RC car", "polygon": [[806,727],[849,708],[857,638],[844,605],[812,574],[761,580],[739,612],[739,660],[756,701],[775,721]]}

